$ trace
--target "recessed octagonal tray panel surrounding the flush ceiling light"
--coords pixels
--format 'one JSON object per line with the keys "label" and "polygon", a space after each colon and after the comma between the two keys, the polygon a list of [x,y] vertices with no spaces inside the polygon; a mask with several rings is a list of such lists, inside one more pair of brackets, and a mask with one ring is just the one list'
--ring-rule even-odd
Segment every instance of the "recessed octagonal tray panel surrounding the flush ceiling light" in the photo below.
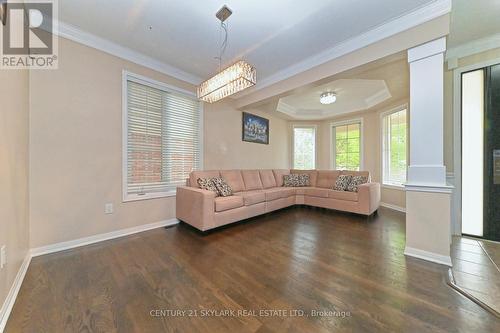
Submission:
{"label": "recessed octagonal tray panel surrounding the flush ceiling light", "polygon": [[[337,101],[324,105],[319,96],[333,91]],[[340,79],[279,100],[277,111],[295,119],[325,119],[344,113],[366,110],[391,98],[384,80]]]}

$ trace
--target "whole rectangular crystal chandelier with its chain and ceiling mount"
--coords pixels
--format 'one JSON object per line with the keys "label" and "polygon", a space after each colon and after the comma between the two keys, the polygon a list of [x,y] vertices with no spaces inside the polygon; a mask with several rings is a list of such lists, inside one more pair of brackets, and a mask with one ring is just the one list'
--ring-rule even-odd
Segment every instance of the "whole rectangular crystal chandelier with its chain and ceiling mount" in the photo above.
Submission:
{"label": "whole rectangular crystal chandelier with its chain and ceiling mount", "polygon": [[221,29],[224,31],[224,40],[222,41],[220,54],[217,57],[219,60],[219,73],[198,87],[198,98],[213,103],[257,83],[257,70],[255,67],[240,60],[233,65],[221,70],[222,56],[227,47],[227,24],[224,21],[231,16],[233,12],[223,6],[215,16],[220,20]]}

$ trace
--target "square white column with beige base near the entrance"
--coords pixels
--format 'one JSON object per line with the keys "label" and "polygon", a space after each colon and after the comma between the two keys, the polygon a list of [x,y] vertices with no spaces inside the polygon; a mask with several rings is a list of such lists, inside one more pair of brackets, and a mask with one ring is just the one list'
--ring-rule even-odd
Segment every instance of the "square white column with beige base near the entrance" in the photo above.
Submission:
{"label": "square white column with beige base near the entrance", "polygon": [[408,50],[410,163],[405,254],[451,266],[450,201],[443,152],[445,37]]}

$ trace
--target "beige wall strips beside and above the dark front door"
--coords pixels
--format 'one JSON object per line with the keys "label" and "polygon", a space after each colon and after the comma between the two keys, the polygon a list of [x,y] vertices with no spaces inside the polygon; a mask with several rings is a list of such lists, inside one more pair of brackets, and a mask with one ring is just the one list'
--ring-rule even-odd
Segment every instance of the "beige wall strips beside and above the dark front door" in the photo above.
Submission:
{"label": "beige wall strips beside and above the dark front door", "polygon": [[[499,59],[500,48],[458,59],[458,67],[467,67]],[[445,67],[444,73],[444,161],[446,171],[453,172],[453,70]],[[457,175],[455,175],[457,176]]]}

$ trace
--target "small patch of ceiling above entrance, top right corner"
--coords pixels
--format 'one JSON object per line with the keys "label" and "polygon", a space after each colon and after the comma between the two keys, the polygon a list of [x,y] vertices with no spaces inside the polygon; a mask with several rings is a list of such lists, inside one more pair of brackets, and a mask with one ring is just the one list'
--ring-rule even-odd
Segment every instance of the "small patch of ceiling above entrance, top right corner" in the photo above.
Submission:
{"label": "small patch of ceiling above entrance, top right corner", "polygon": [[448,48],[500,33],[500,0],[453,0]]}

